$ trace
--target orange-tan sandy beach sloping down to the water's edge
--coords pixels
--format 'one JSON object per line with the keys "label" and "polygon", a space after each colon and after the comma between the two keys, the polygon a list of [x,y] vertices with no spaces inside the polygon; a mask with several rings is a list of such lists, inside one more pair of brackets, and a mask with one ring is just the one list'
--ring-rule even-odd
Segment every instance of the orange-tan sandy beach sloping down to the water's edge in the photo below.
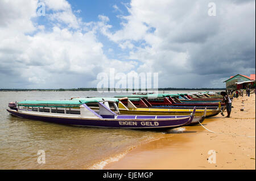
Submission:
{"label": "orange-tan sandy beach sloping down to the water's edge", "polygon": [[[255,169],[255,94],[235,98],[232,106],[230,118],[219,114],[203,122],[217,133],[201,125],[171,131],[104,169]],[[216,151],[216,163],[208,162],[209,150]]]}

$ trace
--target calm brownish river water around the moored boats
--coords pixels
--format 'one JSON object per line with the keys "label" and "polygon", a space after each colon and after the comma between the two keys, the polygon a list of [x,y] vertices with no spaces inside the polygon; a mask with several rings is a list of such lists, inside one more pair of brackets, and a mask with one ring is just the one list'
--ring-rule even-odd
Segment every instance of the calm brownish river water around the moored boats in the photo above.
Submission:
{"label": "calm brownish river water around the moored boats", "polygon": [[[114,95],[118,94],[0,91],[0,169],[102,169],[109,162],[122,158],[134,146],[164,136],[163,132],[51,124],[10,116],[6,111],[12,101]],[[45,164],[38,163],[38,150],[45,151]]]}

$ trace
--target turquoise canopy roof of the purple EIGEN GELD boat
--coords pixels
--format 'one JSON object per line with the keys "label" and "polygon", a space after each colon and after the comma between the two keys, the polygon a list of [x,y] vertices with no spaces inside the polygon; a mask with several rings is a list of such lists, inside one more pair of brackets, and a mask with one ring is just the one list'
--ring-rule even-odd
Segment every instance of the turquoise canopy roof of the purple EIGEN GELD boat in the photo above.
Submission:
{"label": "turquoise canopy roof of the purple EIGEN GELD boat", "polygon": [[18,106],[25,107],[79,107],[81,104],[98,102],[96,99],[87,100],[24,100]]}

